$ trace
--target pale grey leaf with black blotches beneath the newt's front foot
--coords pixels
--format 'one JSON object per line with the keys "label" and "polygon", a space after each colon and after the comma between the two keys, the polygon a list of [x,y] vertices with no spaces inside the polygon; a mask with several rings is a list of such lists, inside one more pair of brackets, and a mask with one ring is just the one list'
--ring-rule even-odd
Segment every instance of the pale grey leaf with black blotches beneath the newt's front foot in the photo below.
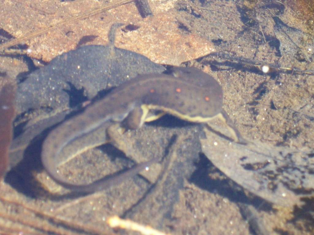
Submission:
{"label": "pale grey leaf with black blotches beneath the newt's front foot", "polygon": [[313,196],[314,159],[310,150],[275,147],[261,142],[244,146],[205,130],[202,151],[226,176],[271,203],[301,206]]}

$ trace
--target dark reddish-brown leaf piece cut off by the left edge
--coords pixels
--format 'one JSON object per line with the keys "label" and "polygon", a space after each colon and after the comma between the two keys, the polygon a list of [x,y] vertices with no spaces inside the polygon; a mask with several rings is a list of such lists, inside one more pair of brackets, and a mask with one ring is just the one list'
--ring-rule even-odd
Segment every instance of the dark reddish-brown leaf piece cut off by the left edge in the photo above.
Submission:
{"label": "dark reddish-brown leaf piece cut off by the left edge", "polygon": [[14,111],[15,88],[12,84],[6,84],[0,91],[0,178],[5,174],[9,157],[8,151],[12,140],[12,121]]}

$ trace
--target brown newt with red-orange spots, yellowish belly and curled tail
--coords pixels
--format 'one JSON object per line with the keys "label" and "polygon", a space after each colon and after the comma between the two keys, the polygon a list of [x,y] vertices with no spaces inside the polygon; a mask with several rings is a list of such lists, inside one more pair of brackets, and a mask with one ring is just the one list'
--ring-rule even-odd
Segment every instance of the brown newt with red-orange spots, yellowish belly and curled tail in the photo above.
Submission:
{"label": "brown newt with red-orange spots, yellowish belly and curled tail", "polygon": [[[175,67],[171,72],[170,75],[138,75],[53,129],[46,137],[41,153],[48,175],[63,187],[80,192],[104,190],[121,183],[158,162],[159,158],[89,184],[70,182],[58,173],[57,166],[81,152],[114,141],[110,137],[114,125],[137,129],[144,122],[154,121],[165,114],[194,123],[219,118],[225,121],[236,142],[245,142],[222,108],[223,90],[213,77],[193,67]],[[160,113],[156,114],[156,110]]]}

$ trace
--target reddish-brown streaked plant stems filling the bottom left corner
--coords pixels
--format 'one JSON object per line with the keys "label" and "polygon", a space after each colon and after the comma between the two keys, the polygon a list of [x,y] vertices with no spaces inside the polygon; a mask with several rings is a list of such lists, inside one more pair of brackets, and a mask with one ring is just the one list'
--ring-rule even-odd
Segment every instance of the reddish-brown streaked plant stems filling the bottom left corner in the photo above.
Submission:
{"label": "reddish-brown streaked plant stems filling the bottom left corner", "polygon": [[25,201],[9,199],[5,194],[2,191],[0,195],[0,219],[6,222],[0,225],[1,234],[107,234],[99,227],[55,215],[53,210],[43,211],[40,207],[29,206]]}

